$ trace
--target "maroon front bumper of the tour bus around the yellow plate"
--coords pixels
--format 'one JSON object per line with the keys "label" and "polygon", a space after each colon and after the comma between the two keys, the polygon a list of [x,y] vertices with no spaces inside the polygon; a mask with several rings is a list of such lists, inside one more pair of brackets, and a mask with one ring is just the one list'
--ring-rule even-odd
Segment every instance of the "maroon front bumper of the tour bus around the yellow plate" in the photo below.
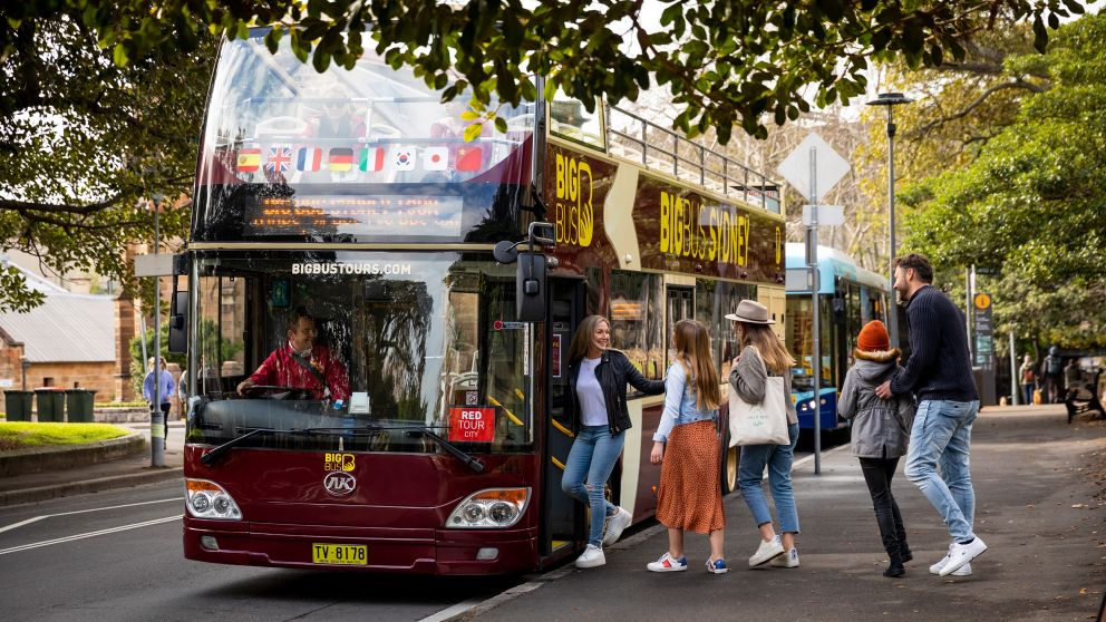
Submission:
{"label": "maroon front bumper of the tour bus around the yellow plate", "polygon": [[[363,545],[362,565],[319,564],[316,544]],[[537,529],[402,529],[186,518],[184,556],[214,564],[400,574],[511,574],[537,567]]]}

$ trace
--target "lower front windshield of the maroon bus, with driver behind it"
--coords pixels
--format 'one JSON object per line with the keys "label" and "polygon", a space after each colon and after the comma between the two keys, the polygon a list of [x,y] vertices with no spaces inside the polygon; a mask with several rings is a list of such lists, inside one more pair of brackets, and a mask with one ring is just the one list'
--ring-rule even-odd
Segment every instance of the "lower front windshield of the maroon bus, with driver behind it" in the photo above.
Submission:
{"label": "lower front windshield of the maroon bus, with driver behind it", "polygon": [[[481,451],[532,441],[530,330],[514,322],[510,266],[460,253],[311,252],[220,253],[197,269],[191,441],[217,445],[256,428],[376,428],[342,448],[433,450],[401,434],[421,426]],[[311,329],[305,341],[301,324]],[[242,389],[248,379],[253,386]],[[469,408],[484,409],[494,427],[463,434],[458,410]],[[258,435],[242,446],[334,443],[327,434]]]}

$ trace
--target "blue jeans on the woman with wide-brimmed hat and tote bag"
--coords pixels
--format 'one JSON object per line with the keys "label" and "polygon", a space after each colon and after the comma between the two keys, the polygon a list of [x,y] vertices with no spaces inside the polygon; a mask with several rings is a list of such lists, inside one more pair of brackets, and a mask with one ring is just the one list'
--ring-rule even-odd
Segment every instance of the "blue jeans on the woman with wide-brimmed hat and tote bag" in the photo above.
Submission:
{"label": "blue jeans on the woman with wide-brimmed hat and tote bag", "polygon": [[779,515],[779,531],[798,533],[798,511],[795,509],[795,493],[792,490],[792,463],[795,461],[795,444],[798,443],[798,424],[787,426],[790,445],[746,445],[741,447],[741,461],[737,467],[737,485],[741,489],[757,526],[772,523],[768,499],[760,489],[764,467],[768,467],[768,487],[772,500]]}

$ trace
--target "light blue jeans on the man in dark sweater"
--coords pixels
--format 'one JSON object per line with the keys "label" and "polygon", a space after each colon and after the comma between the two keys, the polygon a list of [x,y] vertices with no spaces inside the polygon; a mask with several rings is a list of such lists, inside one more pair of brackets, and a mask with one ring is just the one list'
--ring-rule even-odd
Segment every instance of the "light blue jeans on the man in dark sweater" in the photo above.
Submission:
{"label": "light blue jeans on the man in dark sweater", "polygon": [[[976,537],[976,490],[968,454],[979,400],[923,400],[918,405],[906,454],[906,479],[930,499],[955,542]],[[937,467],[941,465],[941,475]]]}

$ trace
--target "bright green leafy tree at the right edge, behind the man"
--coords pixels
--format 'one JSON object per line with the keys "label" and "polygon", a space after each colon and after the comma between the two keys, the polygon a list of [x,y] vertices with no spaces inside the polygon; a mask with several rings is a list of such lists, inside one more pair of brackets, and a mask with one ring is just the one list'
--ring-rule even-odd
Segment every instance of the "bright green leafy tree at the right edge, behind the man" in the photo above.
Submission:
{"label": "bright green leafy tree at the right edge, behind the man", "polygon": [[[937,264],[1002,270],[999,321],[1069,347],[1106,344],[1106,17],[1065,25],[1047,75],[968,166],[913,184],[903,247]],[[999,309],[999,305],[996,307]]]}

